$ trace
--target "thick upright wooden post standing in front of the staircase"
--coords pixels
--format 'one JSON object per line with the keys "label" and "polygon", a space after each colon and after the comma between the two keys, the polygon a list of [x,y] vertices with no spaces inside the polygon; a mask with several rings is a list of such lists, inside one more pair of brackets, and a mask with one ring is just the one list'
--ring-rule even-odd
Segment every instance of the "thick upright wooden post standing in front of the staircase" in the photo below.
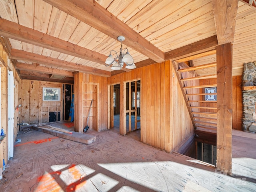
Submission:
{"label": "thick upright wooden post standing in front of the staircase", "polygon": [[217,170],[232,172],[232,44],[217,46]]}

